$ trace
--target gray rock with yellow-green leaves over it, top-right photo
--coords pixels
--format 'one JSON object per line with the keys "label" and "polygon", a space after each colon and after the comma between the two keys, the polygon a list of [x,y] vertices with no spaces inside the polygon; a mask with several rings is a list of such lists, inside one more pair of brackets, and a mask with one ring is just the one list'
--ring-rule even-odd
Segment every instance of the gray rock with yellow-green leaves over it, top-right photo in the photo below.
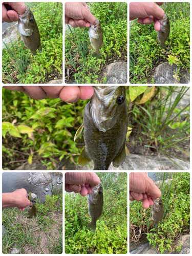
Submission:
{"label": "gray rock with yellow-green leaves over it, top-right photo", "polygon": [[[179,75],[180,81],[173,77],[175,75],[174,72],[177,73],[178,70],[182,74]],[[155,69],[154,81],[155,83],[189,83],[190,74],[175,64],[171,66],[169,62],[164,62]]]}

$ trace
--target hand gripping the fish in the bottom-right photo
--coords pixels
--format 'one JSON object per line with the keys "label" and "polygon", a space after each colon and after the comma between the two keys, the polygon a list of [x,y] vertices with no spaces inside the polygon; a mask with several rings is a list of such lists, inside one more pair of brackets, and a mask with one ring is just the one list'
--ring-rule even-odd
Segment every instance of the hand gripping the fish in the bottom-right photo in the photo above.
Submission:
{"label": "hand gripping the fish in the bottom-right photo", "polygon": [[156,198],[161,196],[161,191],[147,173],[130,174],[130,200],[142,201],[143,208],[153,205]]}

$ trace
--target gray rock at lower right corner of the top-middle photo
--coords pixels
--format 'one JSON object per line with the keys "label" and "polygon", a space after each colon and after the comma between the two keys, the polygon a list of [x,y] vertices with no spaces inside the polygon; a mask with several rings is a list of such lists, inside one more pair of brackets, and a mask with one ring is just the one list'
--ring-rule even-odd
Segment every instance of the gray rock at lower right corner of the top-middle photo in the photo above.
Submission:
{"label": "gray rock at lower right corner of the top-middle photo", "polygon": [[106,67],[106,83],[127,83],[127,63],[114,62]]}

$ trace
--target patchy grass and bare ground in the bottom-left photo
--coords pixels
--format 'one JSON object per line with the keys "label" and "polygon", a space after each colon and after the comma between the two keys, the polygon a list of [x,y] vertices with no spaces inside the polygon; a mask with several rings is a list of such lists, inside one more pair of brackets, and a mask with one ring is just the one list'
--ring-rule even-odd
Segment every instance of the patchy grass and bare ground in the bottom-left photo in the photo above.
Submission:
{"label": "patchy grass and bare ground in the bottom-left photo", "polygon": [[46,205],[36,204],[36,218],[27,219],[27,210],[19,211],[16,207],[3,210],[2,224],[6,228],[2,237],[4,254],[10,253],[14,243],[22,254],[62,253],[62,194],[57,200],[55,197],[46,196]]}

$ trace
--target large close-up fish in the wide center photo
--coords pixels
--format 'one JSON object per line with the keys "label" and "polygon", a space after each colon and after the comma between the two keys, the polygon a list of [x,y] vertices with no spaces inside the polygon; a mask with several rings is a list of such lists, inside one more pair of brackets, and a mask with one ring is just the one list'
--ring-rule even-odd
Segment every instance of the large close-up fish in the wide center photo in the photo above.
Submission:
{"label": "large close-up fish in the wide center photo", "polygon": [[113,162],[118,167],[125,160],[127,104],[124,86],[94,86],[94,94],[84,108],[83,123],[74,141],[83,131],[85,146],[78,165],[91,160],[94,170],[108,170]]}

